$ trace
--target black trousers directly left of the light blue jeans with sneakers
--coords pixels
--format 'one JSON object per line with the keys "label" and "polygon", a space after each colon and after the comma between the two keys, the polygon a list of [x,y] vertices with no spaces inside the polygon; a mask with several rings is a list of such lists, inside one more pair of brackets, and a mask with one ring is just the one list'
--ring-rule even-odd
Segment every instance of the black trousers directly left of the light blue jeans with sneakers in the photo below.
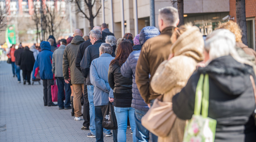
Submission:
{"label": "black trousers directly left of the light blue jeans with sneakers", "polygon": [[83,107],[83,126],[89,128],[90,126],[90,107],[88,101],[87,85],[85,85],[86,79],[84,80],[84,107]]}

